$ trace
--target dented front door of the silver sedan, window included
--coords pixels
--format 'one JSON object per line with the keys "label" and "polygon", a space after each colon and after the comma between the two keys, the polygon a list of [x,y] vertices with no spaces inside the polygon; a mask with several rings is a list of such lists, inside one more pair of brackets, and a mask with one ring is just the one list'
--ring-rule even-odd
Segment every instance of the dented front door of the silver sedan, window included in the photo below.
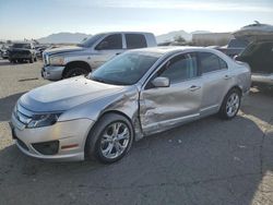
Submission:
{"label": "dented front door of the silver sedan, window included", "polygon": [[[179,55],[167,61],[140,94],[140,120],[151,134],[199,118],[203,85],[195,53]],[[168,77],[168,87],[153,86],[157,76]]]}

